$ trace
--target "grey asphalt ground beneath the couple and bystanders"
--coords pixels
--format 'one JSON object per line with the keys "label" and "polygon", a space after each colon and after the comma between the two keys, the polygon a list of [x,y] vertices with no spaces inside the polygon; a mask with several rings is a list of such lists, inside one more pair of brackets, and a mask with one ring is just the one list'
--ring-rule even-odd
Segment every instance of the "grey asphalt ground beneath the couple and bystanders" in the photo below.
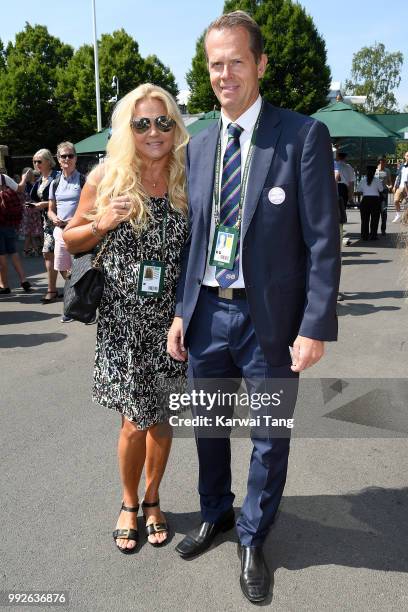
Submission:
{"label": "grey asphalt ground beneath the couple and bystanders", "polygon": [[[303,376],[297,411],[313,426],[292,440],[265,543],[274,587],[263,607],[279,611],[408,609],[408,258],[400,225],[361,243],[349,211],[346,230],[339,341]],[[120,417],[90,400],[96,328],[60,323],[61,302],[39,301],[41,259],[24,265],[32,293],[11,274],[13,293],[0,298],[0,590],[69,591],[61,609],[86,612],[253,609],[239,588],[234,532],[192,561],[174,552],[199,521],[191,437],[175,438],[161,488],[169,544],[155,549],[142,536],[133,556],[115,549]],[[232,447],[238,512],[251,444],[234,438]]]}

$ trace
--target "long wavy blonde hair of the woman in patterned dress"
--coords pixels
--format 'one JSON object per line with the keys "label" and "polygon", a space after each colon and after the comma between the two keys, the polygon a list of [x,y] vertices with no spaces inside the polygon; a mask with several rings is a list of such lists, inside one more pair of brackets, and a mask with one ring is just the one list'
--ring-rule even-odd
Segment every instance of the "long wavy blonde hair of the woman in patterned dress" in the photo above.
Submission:
{"label": "long wavy blonde hair of the woman in patterned dress", "polygon": [[113,111],[112,136],[106,147],[103,177],[97,187],[95,210],[89,218],[100,218],[109,206],[111,198],[127,195],[132,202],[130,222],[136,227],[145,225],[147,221],[150,213],[146,201],[149,195],[141,182],[141,161],[130,125],[136,104],[146,98],[162,101],[167,114],[176,122],[174,146],[168,168],[168,194],[170,205],[174,209],[184,214],[187,212],[184,161],[189,135],[172,96],[157,85],[145,83],[130,91]]}

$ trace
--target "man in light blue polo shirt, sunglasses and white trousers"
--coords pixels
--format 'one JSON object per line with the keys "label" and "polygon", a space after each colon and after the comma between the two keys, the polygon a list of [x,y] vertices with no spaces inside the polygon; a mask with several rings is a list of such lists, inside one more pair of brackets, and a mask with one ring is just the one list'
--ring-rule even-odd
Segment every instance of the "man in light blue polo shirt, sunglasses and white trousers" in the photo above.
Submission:
{"label": "man in light blue polo shirt, sunglasses and white trousers", "polygon": [[[72,257],[68,252],[62,232],[72,219],[78,207],[85,176],[76,169],[77,155],[72,142],[61,142],[57,147],[57,159],[61,174],[50,186],[48,218],[54,225],[54,268],[66,279],[72,266]],[[73,321],[65,315],[61,323]]]}

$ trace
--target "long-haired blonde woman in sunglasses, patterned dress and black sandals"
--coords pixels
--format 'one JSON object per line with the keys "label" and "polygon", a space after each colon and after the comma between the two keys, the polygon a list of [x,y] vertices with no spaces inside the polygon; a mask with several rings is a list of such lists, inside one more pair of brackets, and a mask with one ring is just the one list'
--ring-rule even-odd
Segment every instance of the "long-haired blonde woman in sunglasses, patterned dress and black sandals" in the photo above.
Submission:
{"label": "long-haired blonde woman in sunglasses, patterned dress and black sandals", "polygon": [[135,552],[138,541],[143,468],[148,541],[160,546],[168,536],[159,485],[172,433],[156,389],[160,380],[185,374],[183,363],[166,353],[166,334],[188,233],[187,141],[177,105],[165,90],[145,84],[128,93],[113,113],[106,161],[89,175],[64,231],[71,253],[100,246],[105,288],[93,399],[122,415],[118,457],[123,502],[113,537],[126,554]]}

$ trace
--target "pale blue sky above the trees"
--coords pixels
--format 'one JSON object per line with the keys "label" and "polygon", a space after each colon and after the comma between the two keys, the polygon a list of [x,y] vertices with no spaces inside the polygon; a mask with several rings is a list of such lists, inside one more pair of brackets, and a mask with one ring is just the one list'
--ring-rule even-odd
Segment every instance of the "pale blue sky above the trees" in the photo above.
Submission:
{"label": "pale blue sky above the trees", "polygon": [[[7,19],[1,19],[0,27],[4,43],[13,41],[26,21],[46,25],[50,34],[75,48],[93,42],[92,0],[7,4]],[[405,61],[396,97],[400,109],[408,104],[406,0],[394,0],[390,10],[384,0],[300,0],[300,4],[326,42],[334,81],[344,82],[350,76],[353,54],[361,47],[382,42],[386,51],[402,51]],[[97,33],[124,28],[139,43],[141,55],[156,54],[173,71],[179,89],[185,89],[197,38],[223,6],[223,0],[96,0]]]}

